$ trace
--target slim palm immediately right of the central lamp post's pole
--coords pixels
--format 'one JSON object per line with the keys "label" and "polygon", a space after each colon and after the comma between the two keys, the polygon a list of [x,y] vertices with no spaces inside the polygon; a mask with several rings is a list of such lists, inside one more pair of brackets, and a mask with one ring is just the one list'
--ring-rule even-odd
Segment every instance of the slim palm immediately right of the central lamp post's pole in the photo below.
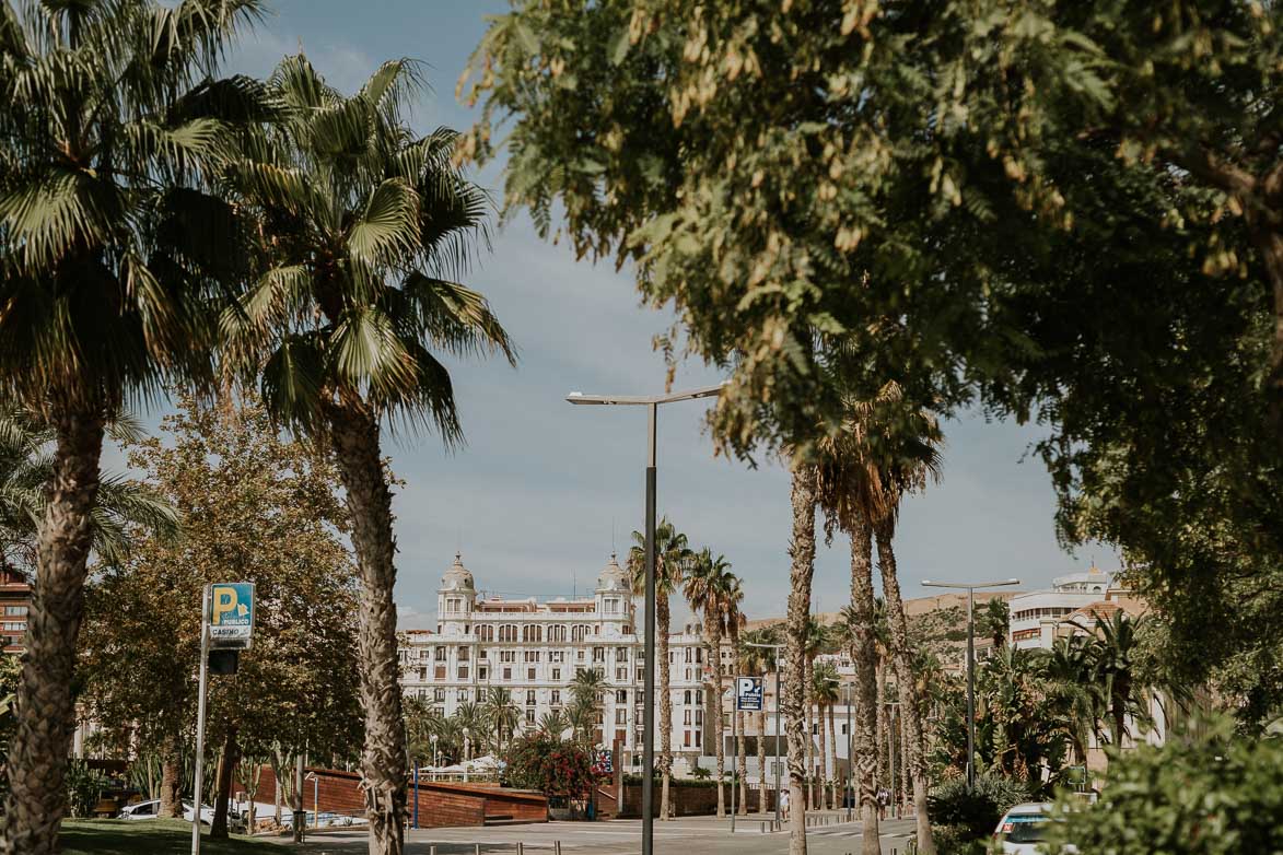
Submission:
{"label": "slim palm immediately right of the central lamp post's pole", "polygon": [[[633,577],[633,591],[645,592],[645,535],[633,532],[627,569]],[[668,597],[681,590],[686,565],[694,552],[686,536],[674,528],[665,517],[654,529],[654,623],[656,659],[659,660],[659,819],[667,820],[671,805],[668,784],[672,779],[672,696],[668,693]],[[654,736],[645,735],[652,740]]]}

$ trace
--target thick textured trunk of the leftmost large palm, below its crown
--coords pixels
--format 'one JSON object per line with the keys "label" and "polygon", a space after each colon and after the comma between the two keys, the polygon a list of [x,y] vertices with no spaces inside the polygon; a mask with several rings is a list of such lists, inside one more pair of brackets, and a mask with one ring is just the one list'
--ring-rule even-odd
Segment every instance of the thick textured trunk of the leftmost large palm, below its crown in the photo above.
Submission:
{"label": "thick textured trunk of the leftmost large palm, below its crown", "polygon": [[22,855],[56,851],[58,827],[67,813],[76,636],[85,613],[85,563],[103,452],[99,408],[59,403],[50,420],[56,446],[27,613],[5,801],[4,851]]}

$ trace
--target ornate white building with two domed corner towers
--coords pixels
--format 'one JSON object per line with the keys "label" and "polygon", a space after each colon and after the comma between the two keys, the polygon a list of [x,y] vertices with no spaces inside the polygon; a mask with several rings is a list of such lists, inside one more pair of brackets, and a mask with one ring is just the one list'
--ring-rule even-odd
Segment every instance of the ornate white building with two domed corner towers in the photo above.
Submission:
{"label": "ornate white building with two domed corner towers", "polygon": [[[554,709],[570,705],[575,674],[598,669],[606,677],[595,742],[620,741],[625,763],[640,764],[643,638],[627,573],[612,556],[593,596],[511,600],[480,595],[461,556],[441,577],[436,631],[404,633],[402,688],[440,714],[481,702],[486,691],[507,688],[522,710],[518,729],[532,729]],[[698,627],[668,638],[672,697],[674,772],[681,774],[703,745],[703,660]],[[658,669],[656,670],[658,681]],[[659,710],[656,706],[656,727]]]}

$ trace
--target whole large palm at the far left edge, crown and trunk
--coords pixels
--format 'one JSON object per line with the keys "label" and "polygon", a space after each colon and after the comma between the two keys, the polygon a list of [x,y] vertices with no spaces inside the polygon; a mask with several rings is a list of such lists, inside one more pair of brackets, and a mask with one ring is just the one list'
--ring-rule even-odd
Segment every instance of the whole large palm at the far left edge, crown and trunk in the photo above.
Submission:
{"label": "whole large palm at the far left edge, crown and trunk", "polygon": [[208,309],[241,278],[244,232],[207,190],[236,126],[268,112],[248,78],[212,76],[259,6],[0,5],[0,395],[54,435],[8,752],[10,850],[53,851],[65,813],[104,426],[126,401],[209,378]]}

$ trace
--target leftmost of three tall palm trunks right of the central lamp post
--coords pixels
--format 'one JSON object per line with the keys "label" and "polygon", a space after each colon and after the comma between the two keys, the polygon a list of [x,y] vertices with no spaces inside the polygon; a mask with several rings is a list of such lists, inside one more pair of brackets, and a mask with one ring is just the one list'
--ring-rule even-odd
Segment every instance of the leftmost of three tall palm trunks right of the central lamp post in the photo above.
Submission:
{"label": "leftmost of three tall palm trunks right of the central lamp post", "polygon": [[784,717],[789,733],[789,855],[806,855],[806,641],[815,573],[815,468],[793,467],[793,537],[789,544],[789,601],[784,660]]}

